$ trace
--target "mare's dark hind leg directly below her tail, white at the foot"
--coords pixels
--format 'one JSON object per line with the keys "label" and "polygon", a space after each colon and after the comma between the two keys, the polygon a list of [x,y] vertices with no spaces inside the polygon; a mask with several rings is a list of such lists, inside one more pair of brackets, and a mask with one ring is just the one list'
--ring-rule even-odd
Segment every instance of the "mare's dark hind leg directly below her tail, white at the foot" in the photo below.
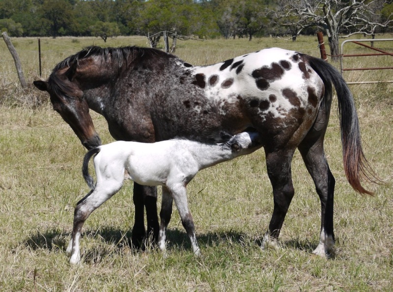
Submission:
{"label": "mare's dark hind leg directly below her tail, white at the foot", "polygon": [[320,239],[312,253],[323,257],[329,255],[335,244],[333,232],[335,178],[329,169],[323,150],[328,117],[329,111],[320,110],[313,128],[298,147],[321,200]]}

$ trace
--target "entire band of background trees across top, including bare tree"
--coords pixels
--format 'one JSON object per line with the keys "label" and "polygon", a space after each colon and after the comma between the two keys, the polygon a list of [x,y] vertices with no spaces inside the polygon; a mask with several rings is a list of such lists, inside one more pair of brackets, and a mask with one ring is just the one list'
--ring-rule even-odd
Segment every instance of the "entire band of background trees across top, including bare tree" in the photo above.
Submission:
{"label": "entire band of background trees across top, including bare tree", "polygon": [[[10,36],[248,37],[390,30],[393,0],[0,0]],[[379,25],[381,23],[382,25]]]}

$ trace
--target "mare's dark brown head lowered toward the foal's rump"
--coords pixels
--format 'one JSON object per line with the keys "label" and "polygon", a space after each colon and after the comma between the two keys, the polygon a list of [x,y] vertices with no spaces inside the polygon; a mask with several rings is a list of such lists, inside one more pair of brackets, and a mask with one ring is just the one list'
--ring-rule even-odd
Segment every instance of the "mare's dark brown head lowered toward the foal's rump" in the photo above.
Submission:
{"label": "mare's dark brown head lowered toward the foal's rump", "polygon": [[49,93],[53,109],[70,125],[84,147],[91,149],[101,145],[101,139],[94,129],[84,92],[74,80],[77,65],[77,55],[68,57],[57,64],[48,80],[33,83]]}

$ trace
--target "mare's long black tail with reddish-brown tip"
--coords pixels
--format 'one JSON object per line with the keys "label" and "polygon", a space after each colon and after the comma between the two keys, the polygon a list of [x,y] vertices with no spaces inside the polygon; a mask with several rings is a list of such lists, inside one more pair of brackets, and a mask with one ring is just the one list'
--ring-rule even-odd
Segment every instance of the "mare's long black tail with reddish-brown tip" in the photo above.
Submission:
{"label": "mare's long black tail with reddish-brown tip", "polygon": [[325,96],[332,94],[332,83],[338,99],[338,116],[341,128],[342,156],[344,171],[349,184],[361,194],[373,195],[360,183],[361,176],[377,183],[380,179],[373,172],[362,149],[359,119],[354,99],[348,85],[335,67],[326,61],[309,57],[309,64],[325,84]]}

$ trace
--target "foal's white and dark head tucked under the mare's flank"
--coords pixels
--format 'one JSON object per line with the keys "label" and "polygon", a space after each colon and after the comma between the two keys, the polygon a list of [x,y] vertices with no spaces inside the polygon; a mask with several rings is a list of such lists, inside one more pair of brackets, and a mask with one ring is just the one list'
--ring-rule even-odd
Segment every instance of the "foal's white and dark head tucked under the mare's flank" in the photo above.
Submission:
{"label": "foal's white and dark head tucked under the mare's flank", "polygon": [[232,136],[226,143],[231,147],[232,152],[238,155],[250,154],[262,147],[258,132],[238,133]]}

